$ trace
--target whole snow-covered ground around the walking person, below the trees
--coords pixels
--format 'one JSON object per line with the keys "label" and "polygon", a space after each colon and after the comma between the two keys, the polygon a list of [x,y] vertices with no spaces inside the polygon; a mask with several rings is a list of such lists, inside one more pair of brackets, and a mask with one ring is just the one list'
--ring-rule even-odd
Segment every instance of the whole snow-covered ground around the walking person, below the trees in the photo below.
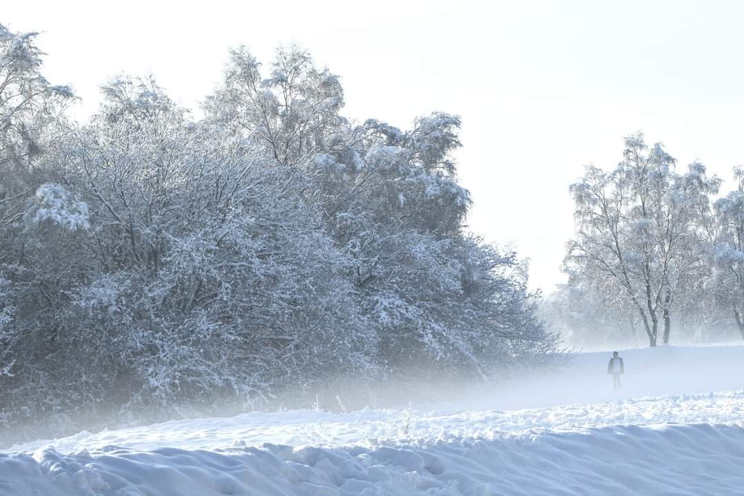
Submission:
{"label": "whole snow-covered ground around the walking person, below the trees", "polygon": [[744,347],[581,353],[403,410],[293,410],[0,448],[0,495],[744,495]]}

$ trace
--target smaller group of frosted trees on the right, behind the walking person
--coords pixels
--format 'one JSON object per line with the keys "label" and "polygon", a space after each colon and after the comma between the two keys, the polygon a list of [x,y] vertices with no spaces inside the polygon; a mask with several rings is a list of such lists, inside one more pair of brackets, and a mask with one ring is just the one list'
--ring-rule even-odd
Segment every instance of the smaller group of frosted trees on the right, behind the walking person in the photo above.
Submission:
{"label": "smaller group of frosted trees on the right, behind the walking person", "polygon": [[[589,344],[744,338],[744,170],[736,188],[693,162],[681,172],[661,144],[625,139],[612,170],[571,184],[576,233],[568,283],[543,307],[554,329]],[[675,324],[678,329],[673,329]]]}

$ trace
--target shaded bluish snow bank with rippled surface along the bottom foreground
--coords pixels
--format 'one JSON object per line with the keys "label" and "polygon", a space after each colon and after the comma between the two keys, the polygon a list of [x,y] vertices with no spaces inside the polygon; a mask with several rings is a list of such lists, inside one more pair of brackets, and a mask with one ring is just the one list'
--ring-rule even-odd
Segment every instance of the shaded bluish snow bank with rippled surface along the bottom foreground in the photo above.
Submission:
{"label": "shaded bluish snow bank with rippled surface along the bottom foreground", "polygon": [[7,495],[740,495],[744,428],[616,426],[393,445],[0,458]]}

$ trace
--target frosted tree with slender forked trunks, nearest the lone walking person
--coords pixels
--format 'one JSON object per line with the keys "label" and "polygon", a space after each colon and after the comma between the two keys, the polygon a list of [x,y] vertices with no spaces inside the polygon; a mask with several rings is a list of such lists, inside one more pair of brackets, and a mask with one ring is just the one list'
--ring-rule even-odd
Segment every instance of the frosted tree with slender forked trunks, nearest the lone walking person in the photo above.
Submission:
{"label": "frosted tree with slender forked trunks, nearest the lone walking person", "polygon": [[621,289],[653,347],[659,338],[669,342],[684,285],[705,274],[700,230],[719,180],[708,178],[699,163],[675,173],[674,159],[659,144],[649,149],[643,135],[625,144],[618,167],[587,167],[571,185],[577,234],[566,264],[602,294]]}

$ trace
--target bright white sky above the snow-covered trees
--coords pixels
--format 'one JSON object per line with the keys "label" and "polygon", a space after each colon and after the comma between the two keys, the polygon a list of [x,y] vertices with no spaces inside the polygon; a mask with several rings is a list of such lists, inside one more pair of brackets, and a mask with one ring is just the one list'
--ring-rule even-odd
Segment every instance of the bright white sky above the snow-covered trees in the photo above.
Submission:
{"label": "bright white sky above the snow-covered trees", "polygon": [[228,47],[269,62],[296,42],[340,74],[348,117],[407,127],[459,114],[473,231],[530,258],[533,288],[562,282],[568,184],[612,167],[641,130],[684,167],[744,164],[740,1],[20,1],[0,23],[39,30],[45,74],[97,109],[98,86],[153,73],[195,108]]}

